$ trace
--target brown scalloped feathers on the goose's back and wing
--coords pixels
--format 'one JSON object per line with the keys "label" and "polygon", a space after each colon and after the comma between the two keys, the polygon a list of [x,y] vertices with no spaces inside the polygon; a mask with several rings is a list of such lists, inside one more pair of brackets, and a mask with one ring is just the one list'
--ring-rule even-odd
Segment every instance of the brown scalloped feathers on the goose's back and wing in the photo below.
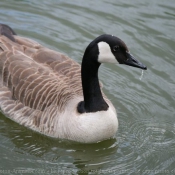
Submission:
{"label": "brown scalloped feathers on the goose's back and wing", "polygon": [[63,112],[71,98],[82,95],[80,65],[35,41],[15,40],[0,36],[1,109],[12,119],[20,111],[39,126],[48,110],[53,117],[52,111]]}

